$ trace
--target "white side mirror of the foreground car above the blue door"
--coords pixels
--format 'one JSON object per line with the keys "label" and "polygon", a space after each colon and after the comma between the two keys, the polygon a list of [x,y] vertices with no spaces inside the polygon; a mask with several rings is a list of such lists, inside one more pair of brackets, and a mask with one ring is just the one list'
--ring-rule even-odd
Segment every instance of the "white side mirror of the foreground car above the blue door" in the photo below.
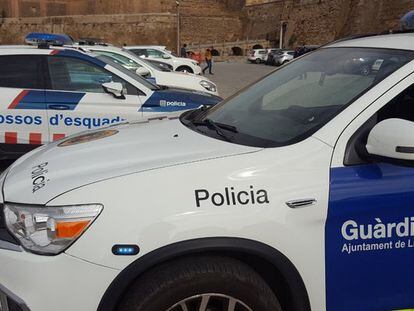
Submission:
{"label": "white side mirror of the foreground car above the blue door", "polygon": [[369,133],[366,148],[370,155],[414,161],[414,122],[403,119],[381,121]]}

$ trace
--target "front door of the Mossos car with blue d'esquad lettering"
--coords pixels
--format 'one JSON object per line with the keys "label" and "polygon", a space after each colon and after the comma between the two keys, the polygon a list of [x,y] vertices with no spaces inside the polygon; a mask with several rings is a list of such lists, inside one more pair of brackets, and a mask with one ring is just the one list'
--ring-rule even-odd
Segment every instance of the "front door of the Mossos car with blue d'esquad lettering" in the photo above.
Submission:
{"label": "front door of the Mossos car with blue d'esquad lettering", "polygon": [[[48,56],[47,63],[50,85],[45,98],[51,141],[142,118],[137,88],[105,68],[59,55]],[[102,84],[108,82],[121,83],[125,98],[106,93]]]}

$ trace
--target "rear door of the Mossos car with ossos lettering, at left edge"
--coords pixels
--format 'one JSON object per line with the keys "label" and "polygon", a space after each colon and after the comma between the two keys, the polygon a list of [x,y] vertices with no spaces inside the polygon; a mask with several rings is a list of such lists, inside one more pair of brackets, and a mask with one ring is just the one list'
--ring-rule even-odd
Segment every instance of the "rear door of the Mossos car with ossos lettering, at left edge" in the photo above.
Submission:
{"label": "rear door of the Mossos car with ossos lettering, at left edge", "polygon": [[[41,55],[0,56],[0,144],[21,152],[48,140]],[[29,148],[30,149],[30,148]]]}

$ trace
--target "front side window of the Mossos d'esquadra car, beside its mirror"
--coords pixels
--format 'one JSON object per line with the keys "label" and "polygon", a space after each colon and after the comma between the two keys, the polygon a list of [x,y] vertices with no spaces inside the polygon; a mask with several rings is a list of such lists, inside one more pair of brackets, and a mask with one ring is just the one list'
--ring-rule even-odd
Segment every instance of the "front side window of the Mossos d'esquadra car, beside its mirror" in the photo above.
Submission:
{"label": "front side window of the Mossos d'esquadra car, beside its mirror", "polygon": [[137,95],[137,89],[127,81],[80,59],[49,56],[48,66],[53,90],[104,93],[103,83],[119,82],[124,86],[125,95]]}

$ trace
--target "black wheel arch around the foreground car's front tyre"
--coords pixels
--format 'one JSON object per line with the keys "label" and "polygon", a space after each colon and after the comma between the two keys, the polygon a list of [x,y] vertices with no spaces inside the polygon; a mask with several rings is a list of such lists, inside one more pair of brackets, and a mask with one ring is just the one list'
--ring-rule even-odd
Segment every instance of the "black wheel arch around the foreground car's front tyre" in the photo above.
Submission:
{"label": "black wheel arch around the foreground car's front tyre", "polygon": [[[292,262],[261,242],[241,238],[202,238],[173,243],[154,250],[126,267],[103,295],[98,311],[113,311],[134,280],[161,263],[182,257],[221,255],[251,266],[277,293],[284,310],[310,311],[305,284]],[[271,269],[272,273],[269,273]]]}

